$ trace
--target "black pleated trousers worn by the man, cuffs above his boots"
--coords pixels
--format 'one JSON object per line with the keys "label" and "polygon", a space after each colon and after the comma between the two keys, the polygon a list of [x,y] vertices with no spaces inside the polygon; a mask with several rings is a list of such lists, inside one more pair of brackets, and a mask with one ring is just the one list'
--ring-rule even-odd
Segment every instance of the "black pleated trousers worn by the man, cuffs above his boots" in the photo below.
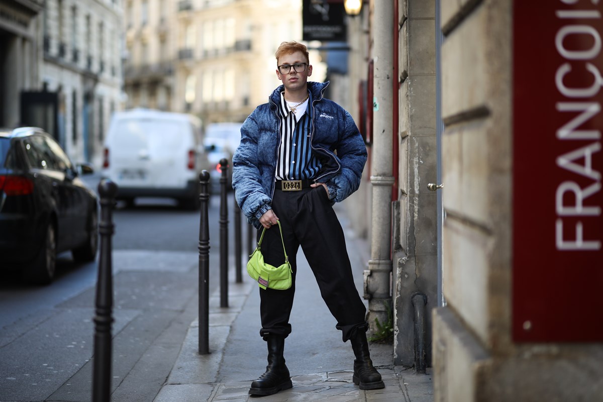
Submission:
{"label": "black pleated trousers worn by the man, cuffs above his boots", "polygon": [[[323,186],[300,191],[275,190],[272,208],[283,228],[283,239],[293,271],[293,284],[286,291],[259,289],[262,329],[260,335],[288,336],[289,316],[295,294],[296,254],[301,246],[320,288],[321,296],[337,320],[343,341],[353,331],[366,331],[366,308],[356,290],[352,266],[339,219]],[[259,235],[263,229],[258,231]],[[284,261],[278,225],[266,230],[262,241],[264,261],[279,266]]]}

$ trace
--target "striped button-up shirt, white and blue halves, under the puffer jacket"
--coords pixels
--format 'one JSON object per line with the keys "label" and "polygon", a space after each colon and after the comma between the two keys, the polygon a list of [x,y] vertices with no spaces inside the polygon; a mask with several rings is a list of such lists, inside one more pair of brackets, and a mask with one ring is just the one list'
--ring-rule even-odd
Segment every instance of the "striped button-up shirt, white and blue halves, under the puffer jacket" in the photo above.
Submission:
{"label": "striped button-up shirt, white and blue halves, under the puffer jacket", "polygon": [[[309,95],[306,112],[297,120],[295,113],[280,93],[280,146],[276,165],[277,180],[312,179],[320,169],[320,162],[312,156],[310,133],[312,125],[312,95]],[[301,105],[303,107],[303,105]]]}

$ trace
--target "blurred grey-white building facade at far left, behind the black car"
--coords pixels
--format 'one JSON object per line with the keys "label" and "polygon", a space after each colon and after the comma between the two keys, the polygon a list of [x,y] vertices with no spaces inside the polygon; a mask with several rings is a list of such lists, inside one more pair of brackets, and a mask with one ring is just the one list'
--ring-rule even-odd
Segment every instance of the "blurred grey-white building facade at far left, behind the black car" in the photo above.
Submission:
{"label": "blurred grey-white building facade at far left, behind the black car", "polygon": [[120,3],[0,2],[8,28],[0,28],[2,125],[45,128],[72,159],[100,165],[110,114],[122,101]]}

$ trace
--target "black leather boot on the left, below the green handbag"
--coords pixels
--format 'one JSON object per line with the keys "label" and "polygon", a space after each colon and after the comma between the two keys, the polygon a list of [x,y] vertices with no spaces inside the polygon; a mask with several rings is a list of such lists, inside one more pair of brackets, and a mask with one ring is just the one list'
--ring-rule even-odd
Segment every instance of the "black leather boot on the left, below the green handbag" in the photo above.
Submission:
{"label": "black leather boot on the left, below the green handbag", "polygon": [[260,375],[249,389],[249,395],[272,395],[283,389],[292,388],[289,369],[285,366],[285,338],[282,336],[268,336],[268,366],[266,372]]}

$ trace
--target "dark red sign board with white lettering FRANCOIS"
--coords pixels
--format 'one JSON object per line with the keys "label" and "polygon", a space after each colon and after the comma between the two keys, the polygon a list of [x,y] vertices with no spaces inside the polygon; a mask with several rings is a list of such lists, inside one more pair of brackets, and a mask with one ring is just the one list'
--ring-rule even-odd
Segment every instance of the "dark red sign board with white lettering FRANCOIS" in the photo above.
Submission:
{"label": "dark red sign board with white lettering FRANCOIS", "polygon": [[513,3],[513,339],[602,342],[603,2]]}

